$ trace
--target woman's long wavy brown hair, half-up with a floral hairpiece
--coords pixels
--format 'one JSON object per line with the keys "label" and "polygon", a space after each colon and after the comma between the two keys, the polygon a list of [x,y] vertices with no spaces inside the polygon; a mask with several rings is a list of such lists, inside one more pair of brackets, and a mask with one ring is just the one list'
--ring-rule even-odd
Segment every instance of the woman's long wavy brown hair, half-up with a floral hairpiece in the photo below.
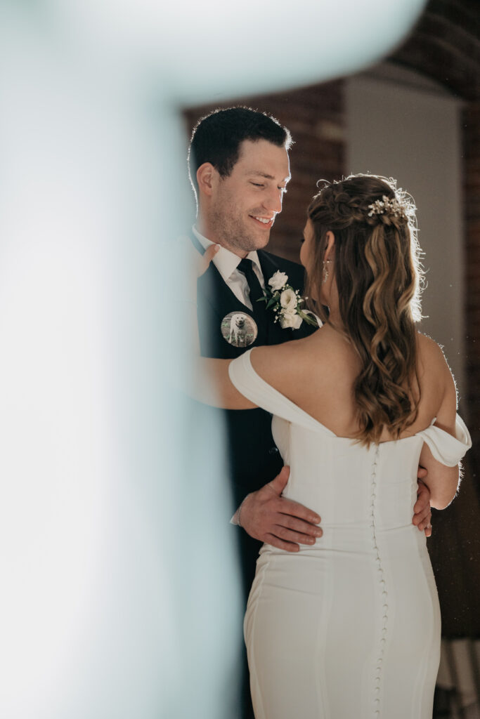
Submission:
{"label": "woman's long wavy brown hair, half-up with a floral hairpiece", "polygon": [[[384,206],[377,202],[386,203],[387,211],[379,213]],[[335,235],[342,331],[361,359],[354,385],[358,441],[378,442],[384,427],[398,438],[415,422],[420,403],[415,322],[421,319],[422,267],[415,204],[392,179],[350,175],[325,183],[307,215],[317,269],[307,278],[309,297],[320,298],[326,235]],[[327,308],[309,306],[328,319]]]}

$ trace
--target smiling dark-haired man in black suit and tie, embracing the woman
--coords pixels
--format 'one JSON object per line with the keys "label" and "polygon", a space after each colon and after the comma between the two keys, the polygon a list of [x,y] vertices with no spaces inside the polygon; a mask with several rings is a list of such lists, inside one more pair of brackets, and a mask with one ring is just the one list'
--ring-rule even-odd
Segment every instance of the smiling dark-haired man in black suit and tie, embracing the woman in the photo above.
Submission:
{"label": "smiling dark-haired man in black suit and tie, embracing the woman", "polygon": [[[303,268],[264,251],[290,180],[289,130],[276,119],[245,107],[212,112],[194,129],[189,174],[198,214],[192,242],[204,253],[220,245],[197,285],[201,354],[235,358],[245,347],[279,344],[312,331],[282,328],[258,298],[276,272],[302,293]],[[208,253],[209,254],[209,253]],[[205,411],[208,411],[205,409]],[[255,575],[262,542],[286,551],[322,536],[320,516],[281,497],[289,477],[271,434],[271,415],[262,409],[221,411],[225,417],[232,487],[232,523],[245,597]],[[414,523],[425,528],[430,495],[420,487]],[[226,519],[227,521],[227,519]],[[247,674],[241,716],[253,717]]]}

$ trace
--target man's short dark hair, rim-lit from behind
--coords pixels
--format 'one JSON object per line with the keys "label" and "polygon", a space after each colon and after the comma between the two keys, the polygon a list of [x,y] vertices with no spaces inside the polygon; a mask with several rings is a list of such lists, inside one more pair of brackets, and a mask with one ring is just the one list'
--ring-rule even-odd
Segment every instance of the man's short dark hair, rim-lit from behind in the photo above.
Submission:
{"label": "man's short dark hair, rim-lit from behind", "polygon": [[277,147],[289,150],[292,139],[286,127],[265,112],[250,107],[229,107],[214,110],[201,117],[191,133],[189,147],[189,175],[196,190],[196,170],[204,162],[211,162],[220,177],[232,172],[245,139],[266,139]]}

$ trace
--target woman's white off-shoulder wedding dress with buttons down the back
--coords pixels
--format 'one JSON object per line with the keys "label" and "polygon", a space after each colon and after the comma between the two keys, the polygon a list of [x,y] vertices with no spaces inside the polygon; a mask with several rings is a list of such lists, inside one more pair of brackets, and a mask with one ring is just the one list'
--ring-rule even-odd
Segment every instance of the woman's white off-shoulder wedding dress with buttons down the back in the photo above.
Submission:
{"label": "woman's white off-shoulder wedding dress with buttons down the back", "polygon": [[440,612],[425,534],[412,525],[424,441],[453,466],[471,446],[431,425],[371,445],[338,437],[253,370],[235,387],[273,414],[284,496],[322,517],[292,554],[264,544],[245,615],[256,719],[431,719]]}

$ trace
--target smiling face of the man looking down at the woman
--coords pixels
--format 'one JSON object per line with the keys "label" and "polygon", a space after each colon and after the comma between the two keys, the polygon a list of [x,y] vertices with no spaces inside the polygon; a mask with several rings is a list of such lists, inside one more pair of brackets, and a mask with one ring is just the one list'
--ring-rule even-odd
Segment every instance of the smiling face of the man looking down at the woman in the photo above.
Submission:
{"label": "smiling face of the man looking down at the woman", "polygon": [[230,175],[214,183],[209,224],[216,241],[241,257],[265,247],[289,179],[285,147],[244,140]]}

